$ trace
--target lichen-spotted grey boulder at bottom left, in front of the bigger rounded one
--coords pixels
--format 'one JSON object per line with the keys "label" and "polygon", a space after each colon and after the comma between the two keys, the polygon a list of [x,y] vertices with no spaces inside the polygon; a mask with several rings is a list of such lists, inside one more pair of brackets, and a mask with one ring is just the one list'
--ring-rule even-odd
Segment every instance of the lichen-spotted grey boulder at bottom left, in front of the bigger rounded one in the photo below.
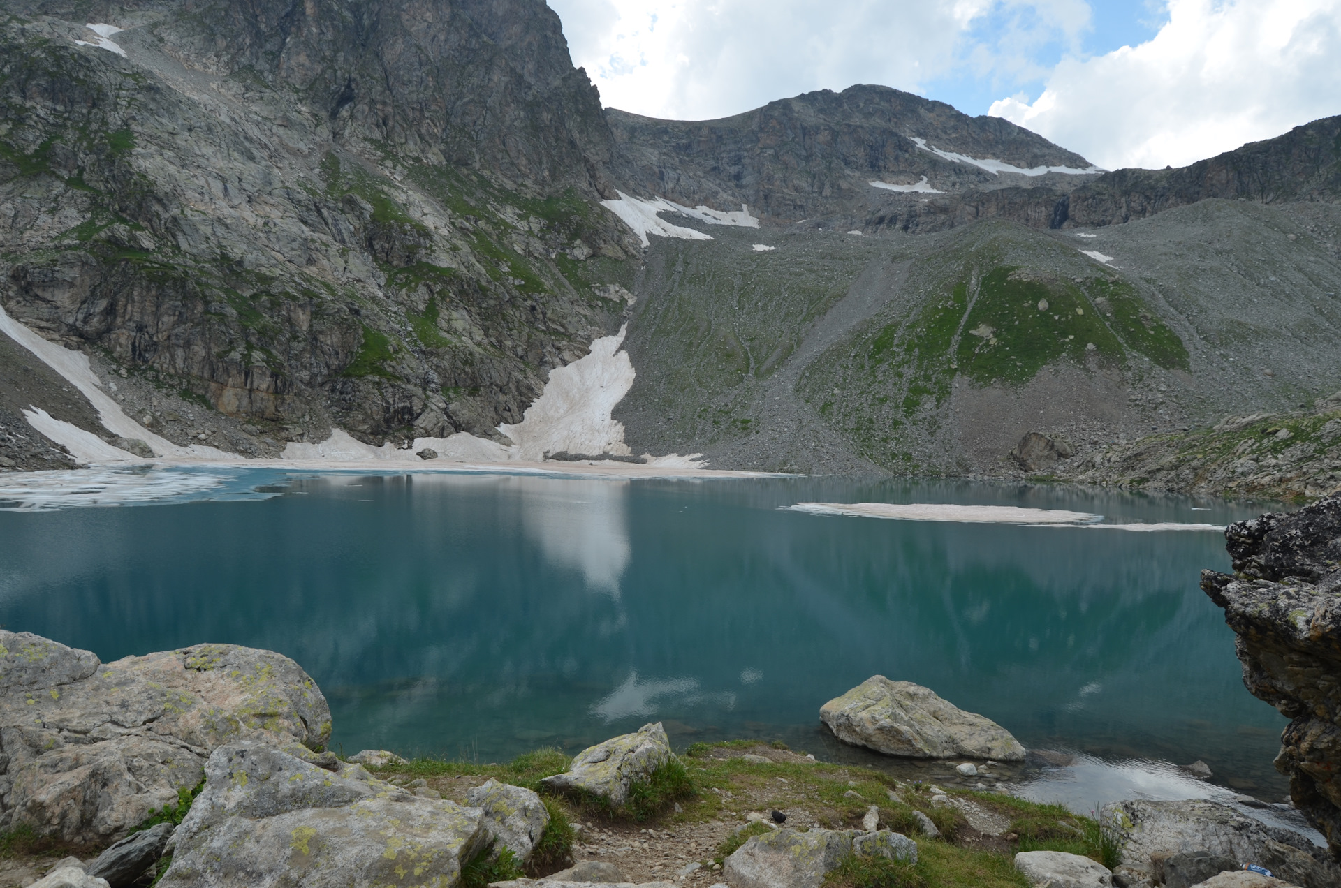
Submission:
{"label": "lichen-spotted grey boulder at bottom left, in front of the bigger rounded one", "polygon": [[231,743],[209,757],[205,789],[158,884],[447,887],[488,841],[476,808],[331,774],[263,743]]}

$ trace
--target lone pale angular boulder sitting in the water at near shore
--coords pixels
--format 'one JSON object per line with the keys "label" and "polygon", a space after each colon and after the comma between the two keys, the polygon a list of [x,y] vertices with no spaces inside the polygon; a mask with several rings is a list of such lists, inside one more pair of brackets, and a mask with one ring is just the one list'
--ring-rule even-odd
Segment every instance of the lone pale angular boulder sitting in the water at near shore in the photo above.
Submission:
{"label": "lone pale angular boulder sitting in the water at near shore", "polygon": [[882,675],[825,703],[819,718],[839,740],[885,755],[1025,759],[1025,747],[996,722],[964,712],[920,684]]}

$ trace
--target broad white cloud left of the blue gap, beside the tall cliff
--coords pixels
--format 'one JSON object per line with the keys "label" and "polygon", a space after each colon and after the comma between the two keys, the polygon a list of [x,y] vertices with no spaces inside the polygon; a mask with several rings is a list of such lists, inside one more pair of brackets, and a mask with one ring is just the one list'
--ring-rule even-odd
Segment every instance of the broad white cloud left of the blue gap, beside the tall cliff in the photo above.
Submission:
{"label": "broad white cloud left of the blue gap, beside the tall cliff", "polygon": [[[923,93],[970,66],[1016,89],[1047,42],[1073,44],[1085,0],[548,0],[607,106],[675,119],[739,114],[854,83]],[[988,38],[972,38],[991,16]]]}

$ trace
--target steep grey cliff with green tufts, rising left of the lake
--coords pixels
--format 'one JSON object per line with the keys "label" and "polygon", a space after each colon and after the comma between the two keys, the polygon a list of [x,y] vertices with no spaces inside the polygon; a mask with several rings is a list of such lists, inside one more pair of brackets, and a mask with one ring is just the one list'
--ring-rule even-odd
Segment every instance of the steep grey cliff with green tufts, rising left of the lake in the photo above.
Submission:
{"label": "steep grey cliff with green tufts, rising left of the lake", "polygon": [[11,12],[0,304],[127,372],[146,425],[184,396],[243,452],[495,435],[617,327],[583,260],[636,241],[593,212],[611,140],[543,3]]}

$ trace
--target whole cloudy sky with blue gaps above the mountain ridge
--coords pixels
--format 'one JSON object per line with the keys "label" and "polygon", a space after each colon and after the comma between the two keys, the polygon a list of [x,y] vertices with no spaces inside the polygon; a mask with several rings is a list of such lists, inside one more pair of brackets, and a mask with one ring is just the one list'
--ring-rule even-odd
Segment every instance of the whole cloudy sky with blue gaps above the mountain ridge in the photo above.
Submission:
{"label": "whole cloudy sky with blue gaps above the mountain ridge", "polygon": [[1341,114],[1341,0],[548,4],[602,101],[649,117],[880,83],[1116,169],[1180,166]]}

